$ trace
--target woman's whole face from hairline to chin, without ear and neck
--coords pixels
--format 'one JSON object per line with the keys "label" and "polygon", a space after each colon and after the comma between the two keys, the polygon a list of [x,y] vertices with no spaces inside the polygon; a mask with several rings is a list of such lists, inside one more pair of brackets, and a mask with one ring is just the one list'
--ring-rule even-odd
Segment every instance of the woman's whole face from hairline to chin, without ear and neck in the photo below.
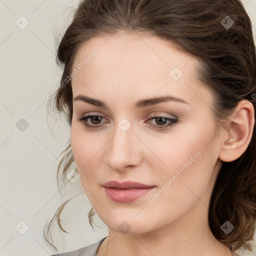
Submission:
{"label": "woman's whole face from hairline to chin, without ear and neck", "polygon": [[[145,34],[102,35],[79,48],[73,98],[93,100],[73,100],[71,147],[83,190],[111,229],[142,233],[181,219],[180,228],[187,228],[193,217],[206,223],[220,139],[212,94],[196,78],[198,64]],[[154,99],[167,95],[172,98]],[[92,117],[83,122],[94,128],[78,120],[86,116]],[[104,187],[110,180],[150,188]]]}

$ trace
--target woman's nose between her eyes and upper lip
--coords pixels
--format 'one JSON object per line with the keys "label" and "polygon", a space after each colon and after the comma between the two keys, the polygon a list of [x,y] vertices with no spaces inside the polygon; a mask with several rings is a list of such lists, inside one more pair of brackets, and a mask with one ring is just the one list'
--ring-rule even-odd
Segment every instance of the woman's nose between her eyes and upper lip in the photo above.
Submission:
{"label": "woman's nose between her eyes and upper lip", "polygon": [[106,164],[116,171],[138,165],[141,161],[139,146],[141,142],[134,135],[132,126],[126,131],[117,126],[114,131],[113,137],[107,143]]}

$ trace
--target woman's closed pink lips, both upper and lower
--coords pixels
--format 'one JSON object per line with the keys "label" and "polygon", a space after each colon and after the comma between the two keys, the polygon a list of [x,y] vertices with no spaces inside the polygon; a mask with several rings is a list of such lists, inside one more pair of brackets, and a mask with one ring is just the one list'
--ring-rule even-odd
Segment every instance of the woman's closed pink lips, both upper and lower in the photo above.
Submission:
{"label": "woman's closed pink lips, both upper and lower", "polygon": [[152,190],[154,185],[142,184],[136,181],[118,182],[110,180],[103,184],[106,195],[116,202],[134,201]]}

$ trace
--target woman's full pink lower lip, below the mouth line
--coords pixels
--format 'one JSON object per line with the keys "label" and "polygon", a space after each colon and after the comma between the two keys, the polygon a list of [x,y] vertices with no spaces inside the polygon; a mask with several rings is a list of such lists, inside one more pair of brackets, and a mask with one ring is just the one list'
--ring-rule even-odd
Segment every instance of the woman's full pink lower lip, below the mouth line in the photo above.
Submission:
{"label": "woman's full pink lower lip, below the mouth line", "polygon": [[143,195],[147,194],[154,187],[148,188],[127,188],[127,189],[118,189],[112,187],[104,187],[106,195],[116,202],[131,202]]}

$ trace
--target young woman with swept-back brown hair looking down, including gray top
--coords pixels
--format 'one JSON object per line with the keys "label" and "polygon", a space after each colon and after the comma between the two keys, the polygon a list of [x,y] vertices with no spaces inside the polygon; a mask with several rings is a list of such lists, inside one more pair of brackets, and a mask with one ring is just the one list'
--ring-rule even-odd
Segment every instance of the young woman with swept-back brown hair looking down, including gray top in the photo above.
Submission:
{"label": "young woman with swept-back brown hair looking down, including gray top", "polygon": [[[71,127],[58,171],[75,162],[108,236],[55,255],[251,250],[256,54],[239,0],[83,0],[57,61]],[[65,203],[45,226],[54,249]]]}

